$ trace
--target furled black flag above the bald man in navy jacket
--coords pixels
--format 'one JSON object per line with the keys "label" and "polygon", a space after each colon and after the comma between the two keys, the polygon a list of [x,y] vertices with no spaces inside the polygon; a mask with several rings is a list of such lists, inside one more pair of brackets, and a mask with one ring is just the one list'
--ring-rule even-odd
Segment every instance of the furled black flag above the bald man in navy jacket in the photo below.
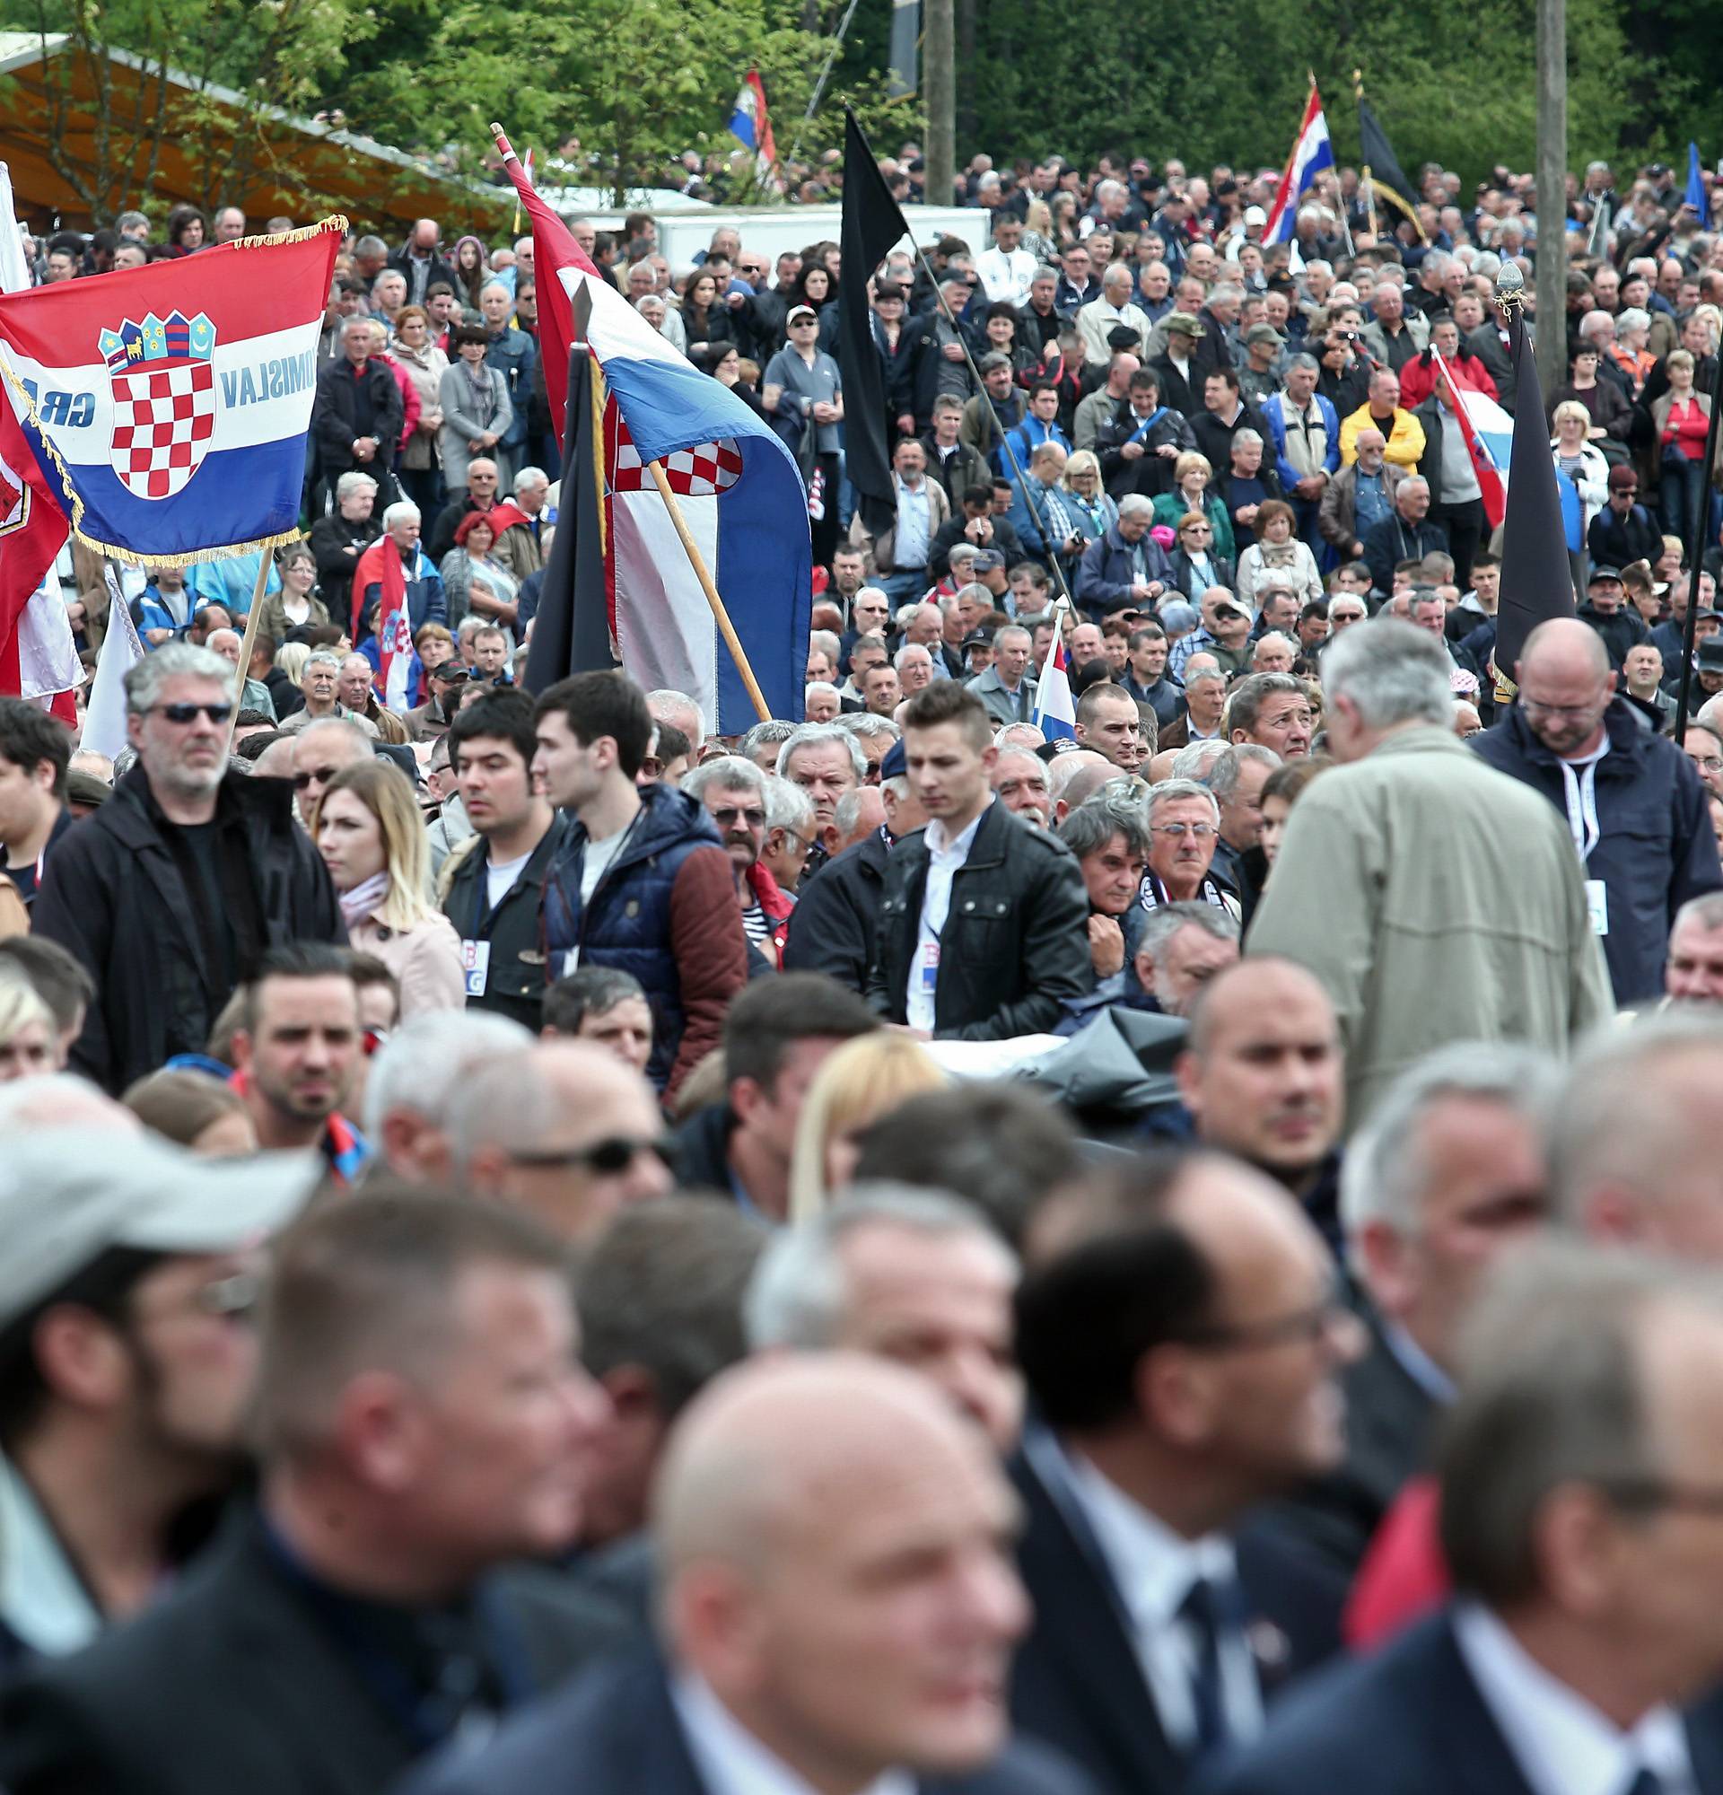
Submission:
{"label": "furled black flag above the bald man in navy jacket", "polygon": [[1515,307],[1508,320],[1513,359],[1513,452],[1508,460],[1508,513],[1502,519],[1502,596],[1495,612],[1495,670],[1513,679],[1526,637],[1551,617],[1574,614],[1574,574],[1567,560],[1567,528],[1556,465],[1544,425],[1538,357],[1526,320]]}

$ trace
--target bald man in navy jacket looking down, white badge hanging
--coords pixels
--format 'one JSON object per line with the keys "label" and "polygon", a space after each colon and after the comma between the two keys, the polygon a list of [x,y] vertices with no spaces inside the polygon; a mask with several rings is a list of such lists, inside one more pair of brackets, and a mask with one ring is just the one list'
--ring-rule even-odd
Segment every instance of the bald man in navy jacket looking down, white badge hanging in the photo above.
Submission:
{"label": "bald man in navy jacket looking down, white badge hanging", "polygon": [[1655,1002],[1676,910],[1723,887],[1707,792],[1615,696],[1608,648],[1578,617],[1533,630],[1515,677],[1520,702],[1470,745],[1567,815],[1615,1002]]}

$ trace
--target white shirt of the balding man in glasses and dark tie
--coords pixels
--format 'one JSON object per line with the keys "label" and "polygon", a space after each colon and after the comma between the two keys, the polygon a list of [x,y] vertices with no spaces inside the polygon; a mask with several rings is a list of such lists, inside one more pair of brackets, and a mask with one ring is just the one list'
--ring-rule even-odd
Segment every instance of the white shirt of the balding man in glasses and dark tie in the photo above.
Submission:
{"label": "white shirt of the balding man in glasses and dark tie", "polygon": [[[1143,1680],[1176,1752],[1197,1748],[1194,1678],[1197,1639],[1179,1614],[1199,1578],[1237,1583],[1231,1540],[1185,1540],[1109,1483],[1086,1458],[1066,1452],[1046,1429],[1025,1436],[1025,1450],[1057,1497],[1075,1502],[1100,1547],[1131,1621]],[[1233,1741],[1262,1732],[1262,1686],[1244,1632],[1220,1628],[1220,1700]]]}

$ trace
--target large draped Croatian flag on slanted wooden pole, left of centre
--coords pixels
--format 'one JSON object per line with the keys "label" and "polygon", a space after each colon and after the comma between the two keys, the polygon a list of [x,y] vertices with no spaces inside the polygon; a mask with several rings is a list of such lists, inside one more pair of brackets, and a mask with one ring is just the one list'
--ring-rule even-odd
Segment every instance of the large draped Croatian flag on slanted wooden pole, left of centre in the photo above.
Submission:
{"label": "large draped Croatian flag on slanted wooden pole, left of centre", "polygon": [[[795,458],[765,418],[698,368],[605,280],[520,172],[503,165],[533,221],[540,346],[558,434],[569,357],[601,377],[601,504],[612,580],[610,634],[641,686],[686,691],[705,725],[732,736],[757,713],[650,463],[662,465],[713,576],[768,714],[802,714],[811,610],[808,497]],[[567,503],[567,501],[564,501]]]}

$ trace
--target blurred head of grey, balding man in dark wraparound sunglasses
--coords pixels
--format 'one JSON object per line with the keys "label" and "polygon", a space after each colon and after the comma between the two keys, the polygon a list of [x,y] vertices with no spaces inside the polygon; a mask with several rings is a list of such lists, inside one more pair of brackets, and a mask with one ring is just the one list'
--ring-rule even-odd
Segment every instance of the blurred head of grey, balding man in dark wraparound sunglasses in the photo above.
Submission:
{"label": "blurred head of grey, balding man in dark wraparound sunglasses", "polygon": [[450,1134],[472,1195],[520,1204],[574,1244],[673,1183],[652,1086],[592,1041],[547,1039],[494,1059],[456,1097]]}

